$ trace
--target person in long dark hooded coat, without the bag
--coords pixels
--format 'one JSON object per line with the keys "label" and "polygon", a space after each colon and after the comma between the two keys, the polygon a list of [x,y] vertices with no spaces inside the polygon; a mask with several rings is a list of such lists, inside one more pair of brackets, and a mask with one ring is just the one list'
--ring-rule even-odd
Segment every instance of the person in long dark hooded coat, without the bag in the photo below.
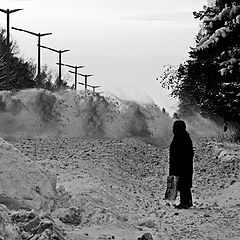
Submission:
{"label": "person in long dark hooded coat, without the bag", "polygon": [[169,175],[178,176],[180,204],[176,208],[188,209],[192,207],[192,177],[193,177],[193,144],[186,124],[176,120],[173,124],[173,140],[169,152]]}

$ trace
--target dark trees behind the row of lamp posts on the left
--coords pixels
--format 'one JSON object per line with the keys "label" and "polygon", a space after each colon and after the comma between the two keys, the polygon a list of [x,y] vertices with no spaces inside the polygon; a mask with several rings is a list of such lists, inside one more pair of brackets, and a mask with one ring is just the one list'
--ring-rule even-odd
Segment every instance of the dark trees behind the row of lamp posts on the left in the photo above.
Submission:
{"label": "dark trees behind the row of lamp posts on the left", "polygon": [[19,47],[16,42],[10,42],[10,82],[6,89],[6,63],[7,63],[7,38],[6,30],[0,29],[0,91],[21,90],[27,88],[43,88],[50,91],[70,88],[65,79],[54,79],[54,73],[47,65],[41,69],[40,78],[37,78],[37,66],[31,60],[19,57]]}

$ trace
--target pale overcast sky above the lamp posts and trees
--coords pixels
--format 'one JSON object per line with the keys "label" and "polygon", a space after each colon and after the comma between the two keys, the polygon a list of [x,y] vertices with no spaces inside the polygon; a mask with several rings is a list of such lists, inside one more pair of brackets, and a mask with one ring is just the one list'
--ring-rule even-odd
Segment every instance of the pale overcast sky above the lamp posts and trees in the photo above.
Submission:
{"label": "pale overcast sky above the lamp posts and trees", "polygon": [[[99,91],[153,100],[172,112],[175,102],[155,79],[163,65],[188,58],[199,29],[192,12],[204,4],[206,0],[1,0],[0,8],[24,9],[11,14],[11,27],[52,32],[42,38],[42,45],[70,49],[62,62],[84,65],[79,72],[93,74],[89,84],[100,85]],[[6,28],[4,13],[0,13],[0,25]],[[36,37],[15,30],[11,37],[25,58],[37,61]],[[41,52],[42,65],[57,70],[57,53]]]}

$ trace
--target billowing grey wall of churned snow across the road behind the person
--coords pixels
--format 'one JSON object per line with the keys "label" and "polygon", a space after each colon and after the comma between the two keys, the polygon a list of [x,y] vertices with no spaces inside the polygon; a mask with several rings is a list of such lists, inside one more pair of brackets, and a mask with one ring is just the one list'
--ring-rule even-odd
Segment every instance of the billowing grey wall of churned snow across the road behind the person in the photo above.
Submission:
{"label": "billowing grey wall of churned snow across the road behind the person", "polygon": [[171,119],[155,104],[71,90],[0,92],[2,136],[164,137]]}

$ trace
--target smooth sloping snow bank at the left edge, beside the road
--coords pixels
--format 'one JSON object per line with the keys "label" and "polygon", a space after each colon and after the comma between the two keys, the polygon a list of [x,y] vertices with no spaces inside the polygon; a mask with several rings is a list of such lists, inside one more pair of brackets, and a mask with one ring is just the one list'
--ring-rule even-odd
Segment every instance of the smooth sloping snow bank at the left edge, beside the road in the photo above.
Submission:
{"label": "smooth sloping snow bank at the left edge, beside the road", "polygon": [[0,138],[0,204],[10,210],[50,211],[55,204],[52,174]]}

